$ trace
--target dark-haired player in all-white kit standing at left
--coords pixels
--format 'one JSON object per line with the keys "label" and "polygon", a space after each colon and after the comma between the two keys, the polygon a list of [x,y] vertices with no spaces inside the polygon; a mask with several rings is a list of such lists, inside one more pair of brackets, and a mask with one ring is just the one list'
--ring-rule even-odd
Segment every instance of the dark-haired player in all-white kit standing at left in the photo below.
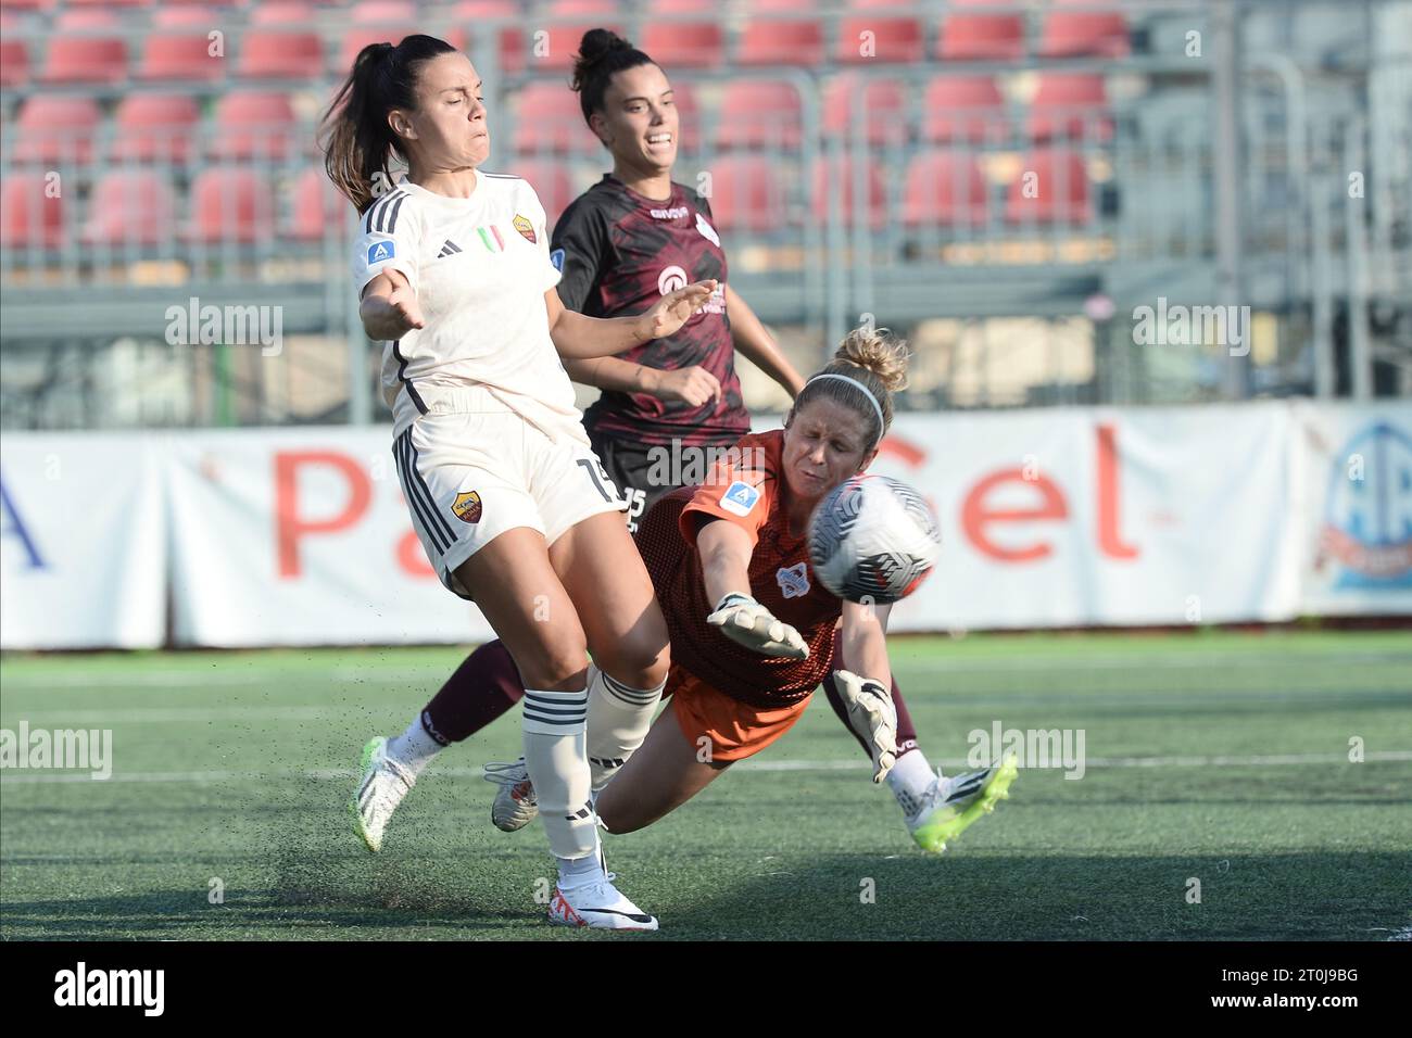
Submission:
{"label": "dark-haired player in all-white kit standing at left", "polygon": [[[442,583],[480,607],[525,682],[525,764],[559,864],[549,918],[657,929],[604,870],[586,737],[594,724],[645,730],[669,667],[666,624],[559,357],[671,335],[716,282],[631,318],[563,309],[534,189],[479,169],[490,145],[480,88],[472,62],[442,40],[371,44],[329,107],[325,165],[361,219],[359,316],[387,343],[383,387],[412,527]],[[393,153],[408,165],[395,185]],[[624,696],[600,705],[592,695],[587,650],[641,719],[621,716]],[[366,772],[383,753],[384,740],[369,743]],[[377,795],[371,782],[357,792]]]}

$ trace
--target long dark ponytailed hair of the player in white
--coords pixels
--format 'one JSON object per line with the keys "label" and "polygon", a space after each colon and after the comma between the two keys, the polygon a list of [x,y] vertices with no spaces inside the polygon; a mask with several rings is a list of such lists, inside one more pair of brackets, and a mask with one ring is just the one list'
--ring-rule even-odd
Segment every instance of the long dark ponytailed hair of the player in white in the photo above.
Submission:
{"label": "long dark ponytailed hair of the player in white", "polygon": [[388,169],[395,151],[405,161],[401,143],[387,124],[393,109],[417,107],[417,78],[422,64],[455,51],[445,40],[409,35],[395,47],[369,44],[359,51],[353,71],[343,80],[319,126],[323,168],[333,185],[357,208],[367,210],[377,195],[377,177],[391,186]]}

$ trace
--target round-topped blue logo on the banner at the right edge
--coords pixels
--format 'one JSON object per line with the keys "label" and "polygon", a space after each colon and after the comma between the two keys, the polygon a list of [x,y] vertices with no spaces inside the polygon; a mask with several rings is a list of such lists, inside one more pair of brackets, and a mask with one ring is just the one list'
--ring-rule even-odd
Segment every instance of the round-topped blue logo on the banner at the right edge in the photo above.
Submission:
{"label": "round-topped blue logo on the banner at the right edge", "polygon": [[1374,422],[1334,456],[1320,548],[1334,587],[1412,587],[1412,436]]}

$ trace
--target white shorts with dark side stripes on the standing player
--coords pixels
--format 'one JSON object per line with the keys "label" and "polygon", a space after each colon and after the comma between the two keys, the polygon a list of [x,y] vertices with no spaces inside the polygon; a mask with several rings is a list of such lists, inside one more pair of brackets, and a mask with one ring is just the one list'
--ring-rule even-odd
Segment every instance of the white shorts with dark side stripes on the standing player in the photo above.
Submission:
{"label": "white shorts with dark side stripes on the standing player", "polygon": [[472,595],[457,566],[507,530],[554,544],[590,515],[627,511],[582,425],[542,428],[474,390],[438,395],[393,456],[426,558],[460,597]]}

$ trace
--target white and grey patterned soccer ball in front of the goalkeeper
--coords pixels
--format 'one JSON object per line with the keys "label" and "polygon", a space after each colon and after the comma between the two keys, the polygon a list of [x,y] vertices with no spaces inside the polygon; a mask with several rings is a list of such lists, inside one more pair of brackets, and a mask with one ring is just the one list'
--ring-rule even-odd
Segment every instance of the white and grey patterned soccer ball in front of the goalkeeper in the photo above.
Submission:
{"label": "white and grey patterned soccer ball in front of the goalkeeper", "polygon": [[931,506],[905,483],[860,473],[809,520],[809,562],[830,592],[884,606],[916,590],[936,565],[942,534]]}

